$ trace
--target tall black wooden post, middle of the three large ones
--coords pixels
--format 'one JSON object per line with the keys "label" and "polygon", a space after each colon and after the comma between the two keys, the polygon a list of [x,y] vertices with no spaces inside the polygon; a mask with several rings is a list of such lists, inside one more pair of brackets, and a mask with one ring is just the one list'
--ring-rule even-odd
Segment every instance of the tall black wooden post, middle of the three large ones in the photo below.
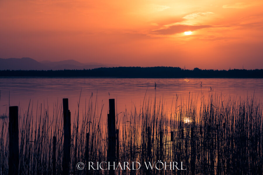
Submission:
{"label": "tall black wooden post, middle of the three large ones", "polygon": [[62,174],[68,175],[70,170],[70,111],[68,110],[68,99],[63,99],[63,120],[64,120],[64,143],[63,143],[63,167]]}

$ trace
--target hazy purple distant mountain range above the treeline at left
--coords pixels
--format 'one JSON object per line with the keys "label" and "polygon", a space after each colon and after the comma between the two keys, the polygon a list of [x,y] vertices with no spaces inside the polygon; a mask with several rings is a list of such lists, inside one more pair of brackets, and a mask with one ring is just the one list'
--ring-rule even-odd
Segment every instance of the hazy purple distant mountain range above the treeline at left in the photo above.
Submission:
{"label": "hazy purple distant mountain range above the treeline at left", "polygon": [[64,69],[94,69],[100,67],[117,67],[114,64],[80,63],[75,60],[41,61],[32,58],[0,58],[0,70],[64,70]]}

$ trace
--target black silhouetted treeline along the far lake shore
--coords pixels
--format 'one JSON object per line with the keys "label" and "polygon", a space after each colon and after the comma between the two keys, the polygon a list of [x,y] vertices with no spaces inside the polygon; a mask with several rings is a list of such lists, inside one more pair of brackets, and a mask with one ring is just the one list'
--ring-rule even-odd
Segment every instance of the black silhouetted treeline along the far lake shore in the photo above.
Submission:
{"label": "black silhouetted treeline along the far lake shore", "polygon": [[88,70],[3,70],[0,77],[263,78],[263,69],[193,70],[180,67],[110,67]]}

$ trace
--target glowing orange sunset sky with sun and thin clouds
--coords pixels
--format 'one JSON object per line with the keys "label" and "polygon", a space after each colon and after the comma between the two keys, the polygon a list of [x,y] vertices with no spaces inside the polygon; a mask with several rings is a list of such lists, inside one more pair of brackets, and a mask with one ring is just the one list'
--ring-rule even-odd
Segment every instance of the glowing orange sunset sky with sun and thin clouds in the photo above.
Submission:
{"label": "glowing orange sunset sky with sun and thin clouds", "polygon": [[0,58],[263,69],[262,9],[262,0],[1,0]]}

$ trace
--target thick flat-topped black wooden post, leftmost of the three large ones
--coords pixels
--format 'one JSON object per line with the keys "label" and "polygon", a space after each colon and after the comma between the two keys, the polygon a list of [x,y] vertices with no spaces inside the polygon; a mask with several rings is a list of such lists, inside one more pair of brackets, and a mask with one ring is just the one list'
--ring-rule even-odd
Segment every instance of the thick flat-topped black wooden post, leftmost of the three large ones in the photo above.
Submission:
{"label": "thick flat-topped black wooden post, leftmost of the three large ones", "polygon": [[18,141],[18,106],[9,107],[9,160],[8,174],[18,175],[19,141]]}

